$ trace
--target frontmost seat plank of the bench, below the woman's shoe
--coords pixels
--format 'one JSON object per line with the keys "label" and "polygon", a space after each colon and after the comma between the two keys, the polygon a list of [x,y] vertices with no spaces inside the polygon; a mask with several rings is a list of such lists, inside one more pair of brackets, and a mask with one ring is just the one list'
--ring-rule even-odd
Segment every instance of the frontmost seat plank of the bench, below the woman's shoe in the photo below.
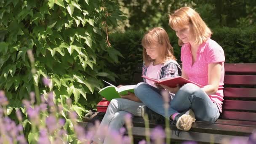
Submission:
{"label": "frontmost seat plank of the bench, below the woman's shoe", "polygon": [[[153,128],[149,128],[149,131],[152,132]],[[145,139],[145,128],[133,127],[132,128],[133,137]],[[211,134],[211,133],[198,133],[193,131],[181,131],[179,136],[176,136],[175,131],[171,135],[171,141],[198,141],[203,143],[215,143],[220,144],[224,139],[232,139],[234,137],[248,140],[247,136],[230,136],[230,135],[221,135],[221,134]]]}

